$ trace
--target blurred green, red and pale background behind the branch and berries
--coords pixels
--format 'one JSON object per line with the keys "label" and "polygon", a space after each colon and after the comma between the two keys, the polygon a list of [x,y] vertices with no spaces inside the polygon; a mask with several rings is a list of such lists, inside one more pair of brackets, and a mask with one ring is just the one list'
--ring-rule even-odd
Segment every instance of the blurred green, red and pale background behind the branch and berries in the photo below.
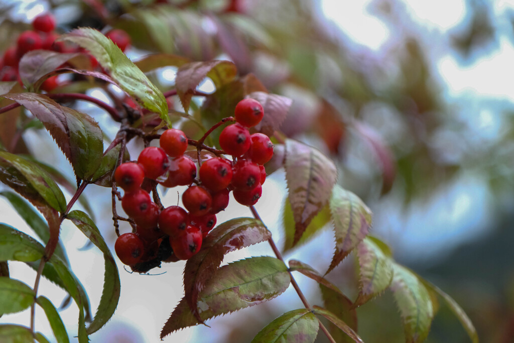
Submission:
{"label": "blurred green, red and pale background behind the branch and berries", "polygon": [[[61,32],[78,26],[125,29],[133,38],[127,51],[133,60],[153,52],[228,59],[242,75],[253,73],[270,92],[293,99],[281,130],[336,161],[339,184],[372,209],[372,233],[392,247],[395,259],[460,303],[481,341],[514,341],[514,1],[0,0],[0,52],[47,10],[56,15]],[[149,76],[169,89],[175,71],[162,68]],[[213,85],[206,80],[200,89],[212,92]],[[88,92],[108,100],[98,89]],[[201,106],[201,99],[194,101]],[[180,111],[178,101],[175,105]],[[78,108],[113,137],[116,123],[102,110],[82,103]],[[44,130],[29,130],[23,138],[34,155],[73,179]],[[142,149],[136,144],[130,148],[135,153]],[[91,186],[85,196],[114,246],[110,191]],[[266,180],[256,206],[278,242],[283,241],[285,196],[284,173],[278,170]],[[176,198],[169,192],[165,201]],[[0,221],[29,231],[3,199],[0,213]],[[218,223],[248,215],[245,207],[231,205]],[[72,225],[61,232],[71,265],[96,308],[102,256],[94,247],[82,248],[86,239]],[[333,244],[325,228],[285,257],[326,270]],[[228,255],[225,262],[271,254],[259,244]],[[121,263],[119,268],[120,304],[91,341],[158,341],[182,297],[183,262],[163,265],[156,272],[160,275],[125,273]],[[34,278],[33,270],[21,263],[11,264],[11,275],[29,284]],[[297,279],[311,303],[321,303],[316,284]],[[354,298],[353,258],[328,279]],[[40,293],[57,304],[65,296],[49,282],[42,283]],[[266,304],[210,320],[211,328],[182,330],[164,341],[250,341],[273,318],[300,306],[296,293],[288,290]],[[357,313],[364,341],[403,340],[391,294]],[[74,305],[61,316],[72,333],[77,326]],[[42,311],[37,318],[37,328],[53,337]],[[29,313],[0,321],[26,324]],[[441,308],[427,341],[469,338]]]}

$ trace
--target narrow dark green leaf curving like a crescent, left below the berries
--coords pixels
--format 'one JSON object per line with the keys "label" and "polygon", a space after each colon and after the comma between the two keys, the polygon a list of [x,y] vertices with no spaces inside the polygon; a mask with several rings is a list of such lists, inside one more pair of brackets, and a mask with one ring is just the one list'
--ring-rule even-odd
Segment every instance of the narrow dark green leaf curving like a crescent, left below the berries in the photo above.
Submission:
{"label": "narrow dark green leaf curving like a crescent, left below the berries", "polygon": [[95,318],[87,328],[87,333],[91,334],[102,328],[113,316],[120,298],[120,276],[114,257],[111,254],[111,250],[109,250],[100,231],[87,214],[82,211],[75,210],[69,212],[66,218],[77,225],[82,233],[84,233],[85,236],[103,252],[103,258],[105,259],[102,297],[100,298],[100,304],[98,305]]}

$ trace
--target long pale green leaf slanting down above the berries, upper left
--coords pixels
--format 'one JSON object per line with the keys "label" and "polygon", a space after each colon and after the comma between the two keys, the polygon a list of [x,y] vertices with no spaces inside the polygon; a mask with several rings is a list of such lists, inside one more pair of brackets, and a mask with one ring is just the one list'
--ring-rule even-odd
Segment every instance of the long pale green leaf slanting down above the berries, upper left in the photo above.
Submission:
{"label": "long pale green leaf slanting down above the berries, upper left", "polygon": [[82,27],[63,34],[61,39],[89,50],[123,91],[145,109],[158,113],[171,127],[168,104],[162,92],[105,35],[95,29]]}

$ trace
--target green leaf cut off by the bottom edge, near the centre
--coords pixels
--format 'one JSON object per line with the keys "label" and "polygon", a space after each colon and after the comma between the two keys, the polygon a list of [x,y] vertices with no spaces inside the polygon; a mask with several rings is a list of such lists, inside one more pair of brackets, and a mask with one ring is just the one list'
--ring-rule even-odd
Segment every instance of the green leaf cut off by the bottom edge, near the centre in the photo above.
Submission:
{"label": "green leaf cut off by the bottom edge, near the centre", "polygon": [[267,324],[251,343],[312,343],[318,330],[319,321],[310,310],[293,310]]}

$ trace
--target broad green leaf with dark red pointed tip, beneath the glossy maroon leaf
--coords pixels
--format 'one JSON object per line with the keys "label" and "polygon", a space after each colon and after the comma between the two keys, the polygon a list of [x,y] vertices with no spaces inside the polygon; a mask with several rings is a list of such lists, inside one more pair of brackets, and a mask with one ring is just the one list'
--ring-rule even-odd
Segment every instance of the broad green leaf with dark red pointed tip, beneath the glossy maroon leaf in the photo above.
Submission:
{"label": "broad green leaf with dark red pointed tip, beneath the glossy maroon leaf", "polygon": [[[252,257],[229,263],[217,269],[200,292],[200,319],[207,320],[271,300],[282,294],[290,281],[286,265],[273,257]],[[186,298],[182,298],[164,324],[160,337],[198,323]]]}

